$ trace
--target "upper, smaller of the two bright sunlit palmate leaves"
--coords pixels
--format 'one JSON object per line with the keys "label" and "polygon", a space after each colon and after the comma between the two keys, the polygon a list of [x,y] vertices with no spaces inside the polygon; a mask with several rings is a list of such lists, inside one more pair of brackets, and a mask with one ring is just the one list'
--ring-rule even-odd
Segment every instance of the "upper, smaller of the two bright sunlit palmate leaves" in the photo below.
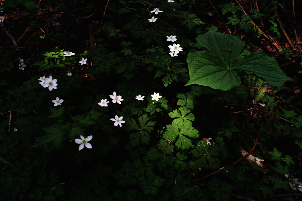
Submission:
{"label": "upper, smaller of the two bright sunlit palmate leaves", "polygon": [[[178,112],[178,110],[180,113]],[[192,124],[192,121],[195,120],[195,116],[192,113],[190,113],[191,110],[186,107],[179,107],[178,110],[173,110],[172,112],[169,113],[169,116],[171,118],[177,118],[174,119],[173,122],[176,124],[182,124],[182,123]]]}

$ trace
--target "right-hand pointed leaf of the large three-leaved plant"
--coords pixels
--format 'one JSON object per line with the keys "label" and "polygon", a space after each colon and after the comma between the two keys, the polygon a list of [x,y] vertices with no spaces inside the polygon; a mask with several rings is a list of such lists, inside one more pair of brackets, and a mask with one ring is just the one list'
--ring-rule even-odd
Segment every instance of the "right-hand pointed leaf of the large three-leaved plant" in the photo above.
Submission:
{"label": "right-hand pointed leaf of the large three-leaved plant", "polygon": [[236,62],[232,69],[244,71],[265,80],[269,85],[282,86],[286,81],[295,81],[289,78],[279,68],[276,59],[267,56],[264,52],[251,53]]}

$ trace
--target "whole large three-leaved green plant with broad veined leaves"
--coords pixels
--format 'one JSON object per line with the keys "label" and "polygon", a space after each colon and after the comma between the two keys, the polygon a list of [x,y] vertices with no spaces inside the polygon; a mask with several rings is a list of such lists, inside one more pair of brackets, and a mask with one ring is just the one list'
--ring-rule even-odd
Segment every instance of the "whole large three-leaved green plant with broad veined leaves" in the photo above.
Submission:
{"label": "whole large three-leaved green plant with broad veined leaves", "polygon": [[255,75],[274,86],[294,81],[284,74],[275,59],[263,52],[251,53],[236,62],[245,45],[238,37],[209,30],[196,40],[210,53],[196,50],[188,53],[190,80],[186,85],[198,84],[227,91],[241,83],[236,70]]}

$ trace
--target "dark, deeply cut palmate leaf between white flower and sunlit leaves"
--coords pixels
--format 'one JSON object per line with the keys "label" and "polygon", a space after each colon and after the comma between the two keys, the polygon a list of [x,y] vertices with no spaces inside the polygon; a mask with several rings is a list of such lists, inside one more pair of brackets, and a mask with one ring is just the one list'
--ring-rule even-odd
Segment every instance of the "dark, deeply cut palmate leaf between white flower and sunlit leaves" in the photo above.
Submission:
{"label": "dark, deeply cut palmate leaf between white flower and sunlit leaves", "polygon": [[136,121],[131,118],[130,121],[126,122],[129,126],[127,130],[139,130],[136,133],[132,133],[129,136],[129,139],[131,139],[131,144],[138,145],[140,142],[144,144],[149,144],[150,141],[150,132],[153,130],[153,127],[155,125],[155,122],[149,121],[149,117],[147,114],[143,114],[142,116],[138,117],[138,121],[140,122],[140,126],[137,125]]}

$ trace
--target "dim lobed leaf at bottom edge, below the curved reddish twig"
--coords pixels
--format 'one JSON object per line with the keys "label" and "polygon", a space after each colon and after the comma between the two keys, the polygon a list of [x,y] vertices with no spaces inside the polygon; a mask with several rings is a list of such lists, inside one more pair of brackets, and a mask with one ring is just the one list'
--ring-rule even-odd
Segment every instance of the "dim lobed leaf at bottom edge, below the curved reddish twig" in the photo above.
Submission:
{"label": "dim lobed leaf at bottom edge, below the curved reddish twig", "polygon": [[230,196],[228,193],[232,191],[233,186],[226,183],[225,181],[221,182],[216,177],[212,177],[212,179],[209,181],[209,189],[213,190],[213,197],[217,201],[227,201],[230,199]]}

